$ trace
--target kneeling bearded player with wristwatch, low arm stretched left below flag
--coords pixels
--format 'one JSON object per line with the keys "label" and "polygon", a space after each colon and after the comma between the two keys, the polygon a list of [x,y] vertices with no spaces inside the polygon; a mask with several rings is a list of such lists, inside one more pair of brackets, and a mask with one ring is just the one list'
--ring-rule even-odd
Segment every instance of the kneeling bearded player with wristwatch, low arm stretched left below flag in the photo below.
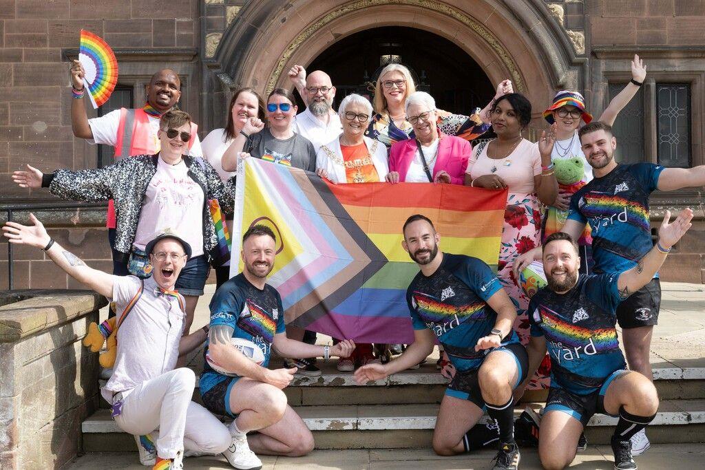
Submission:
{"label": "kneeling bearded player with wristwatch, low arm stretched left below flag", "polygon": [[387,364],[355,371],[358,383],[377,381],[419,364],[436,338],[457,372],[436,419],[433,446],[453,455],[475,446],[467,437],[486,409],[499,428],[494,469],[517,469],[512,392],[526,378],[527,352],[512,325],[517,311],[484,261],[439,252],[441,236],[429,218],[411,216],[403,227],[403,248],[421,272],[407,290],[415,340]]}

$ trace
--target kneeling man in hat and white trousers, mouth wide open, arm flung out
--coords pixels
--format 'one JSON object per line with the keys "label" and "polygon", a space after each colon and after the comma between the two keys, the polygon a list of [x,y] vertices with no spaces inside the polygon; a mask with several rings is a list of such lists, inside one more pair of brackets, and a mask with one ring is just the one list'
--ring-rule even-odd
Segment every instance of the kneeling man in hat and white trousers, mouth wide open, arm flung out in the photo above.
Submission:
{"label": "kneeling man in hat and white trousers, mouth wide open, arm flung out", "polygon": [[[44,225],[30,214],[32,225],[8,222],[8,241],[46,252],[69,276],[116,303],[118,345],[114,371],[102,389],[112,416],[125,432],[148,435],[159,428],[154,442],[154,468],[182,469],[184,449],[191,454],[219,454],[232,438],[228,429],[200,404],[191,401],[195,375],[176,366],[180,355],[203,344],[208,327],[183,336],[184,299],[173,290],[191,247],[174,233],[161,233],[145,251],[152,277],[114,276],[90,268],[55,242]],[[126,313],[125,313],[126,311]],[[124,314],[124,316],[123,316]],[[139,443],[138,443],[139,445]],[[151,464],[143,459],[142,464]]]}

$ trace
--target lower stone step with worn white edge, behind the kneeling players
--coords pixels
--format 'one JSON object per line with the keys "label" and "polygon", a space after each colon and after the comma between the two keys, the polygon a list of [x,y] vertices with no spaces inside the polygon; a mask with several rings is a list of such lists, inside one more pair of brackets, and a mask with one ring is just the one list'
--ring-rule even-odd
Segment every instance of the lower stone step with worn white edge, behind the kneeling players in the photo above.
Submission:
{"label": "lower stone step with worn white edge, behind the kneeling players", "polygon": [[[534,409],[539,403],[530,404]],[[431,445],[437,404],[294,407],[313,431],[319,449],[414,448]],[[515,416],[523,409],[517,407]],[[487,419],[484,416],[483,419]],[[591,444],[608,443],[617,419],[596,414],[586,433]],[[82,423],[84,452],[135,450],[108,410]],[[649,426],[653,443],[697,443],[705,435],[705,400],[664,400]]]}

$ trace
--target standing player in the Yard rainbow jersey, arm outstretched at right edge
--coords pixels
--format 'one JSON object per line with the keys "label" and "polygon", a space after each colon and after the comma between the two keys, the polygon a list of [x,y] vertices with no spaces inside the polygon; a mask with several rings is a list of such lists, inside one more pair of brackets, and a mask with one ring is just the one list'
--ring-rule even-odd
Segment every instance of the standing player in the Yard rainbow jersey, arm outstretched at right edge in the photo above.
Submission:
{"label": "standing player in the Yard rainbow jersey, arm outstretched at right edge", "polygon": [[[577,240],[589,223],[594,272],[621,273],[636,266],[654,246],[649,220],[651,192],[703,186],[705,165],[664,168],[654,163],[617,163],[614,159],[617,140],[611,126],[601,121],[585,125],[578,135],[594,179],[573,194],[568,220],[560,230]],[[515,276],[534,259],[541,259],[541,247],[517,257]],[[629,298],[617,308],[617,321],[622,328],[627,364],[632,371],[653,380],[649,350],[661,306],[658,273],[638,290],[625,293]],[[635,436],[633,443],[638,449],[635,455],[649,448],[643,432]]]}

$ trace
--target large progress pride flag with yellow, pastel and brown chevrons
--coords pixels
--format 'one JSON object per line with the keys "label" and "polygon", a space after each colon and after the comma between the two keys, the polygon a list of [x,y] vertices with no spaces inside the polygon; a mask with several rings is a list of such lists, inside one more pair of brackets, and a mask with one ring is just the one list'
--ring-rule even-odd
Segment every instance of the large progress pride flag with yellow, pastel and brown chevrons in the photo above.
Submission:
{"label": "large progress pride flag with yellow, pastel and brown chevrons", "polygon": [[412,214],[431,218],[443,251],[497,265],[507,194],[460,185],[331,185],[298,168],[245,159],[238,174],[231,276],[255,223],[277,237],[267,281],[286,323],[334,338],[412,342],[406,290],[419,271],[401,246]]}

